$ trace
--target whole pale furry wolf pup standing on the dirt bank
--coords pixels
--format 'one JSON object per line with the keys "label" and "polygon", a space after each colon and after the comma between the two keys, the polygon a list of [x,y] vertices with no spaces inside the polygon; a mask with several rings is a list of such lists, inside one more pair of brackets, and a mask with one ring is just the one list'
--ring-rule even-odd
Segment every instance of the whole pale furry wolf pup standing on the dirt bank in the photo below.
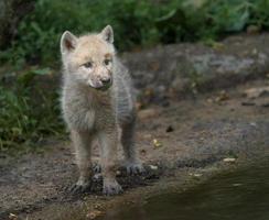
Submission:
{"label": "whole pale furry wolf pup standing on the dirt bank", "polygon": [[90,150],[100,145],[103,191],[122,191],[116,180],[117,147],[121,143],[128,173],[143,170],[133,142],[136,107],[131,78],[114,47],[114,32],[75,36],[66,31],[61,38],[63,61],[63,116],[75,147],[79,178],[72,191],[88,189],[92,178]]}

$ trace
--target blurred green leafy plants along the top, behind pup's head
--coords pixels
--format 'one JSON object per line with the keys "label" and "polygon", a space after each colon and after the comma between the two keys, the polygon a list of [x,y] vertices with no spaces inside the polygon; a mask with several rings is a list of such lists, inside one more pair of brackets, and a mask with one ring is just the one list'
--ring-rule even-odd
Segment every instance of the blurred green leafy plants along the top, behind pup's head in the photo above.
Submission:
{"label": "blurred green leafy plants along the top, behind pup's head", "polygon": [[111,24],[120,51],[159,43],[215,40],[256,25],[269,28],[269,0],[37,0],[1,58],[23,64],[58,61],[65,30],[100,31]]}

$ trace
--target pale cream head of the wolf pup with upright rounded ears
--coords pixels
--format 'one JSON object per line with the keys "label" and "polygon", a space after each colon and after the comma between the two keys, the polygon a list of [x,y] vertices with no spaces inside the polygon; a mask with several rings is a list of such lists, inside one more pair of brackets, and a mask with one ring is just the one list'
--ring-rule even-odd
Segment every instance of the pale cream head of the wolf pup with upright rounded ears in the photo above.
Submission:
{"label": "pale cream head of the wolf pup with upright rounded ears", "polygon": [[65,70],[72,80],[92,88],[106,90],[112,84],[115,47],[114,32],[107,25],[98,34],[80,37],[63,33],[61,53]]}

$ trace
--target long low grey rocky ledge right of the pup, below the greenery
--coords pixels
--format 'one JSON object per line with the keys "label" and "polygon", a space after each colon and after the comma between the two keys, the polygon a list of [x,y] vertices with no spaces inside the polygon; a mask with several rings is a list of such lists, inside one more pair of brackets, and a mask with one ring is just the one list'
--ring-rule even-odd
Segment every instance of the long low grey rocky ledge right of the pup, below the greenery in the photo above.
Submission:
{"label": "long low grey rocky ledge right of the pup, below the greenery", "polygon": [[267,42],[269,34],[237,35],[217,43],[217,50],[201,43],[182,43],[126,53],[122,61],[139,97],[146,103],[160,103],[165,96],[182,98],[265,76],[269,65]]}

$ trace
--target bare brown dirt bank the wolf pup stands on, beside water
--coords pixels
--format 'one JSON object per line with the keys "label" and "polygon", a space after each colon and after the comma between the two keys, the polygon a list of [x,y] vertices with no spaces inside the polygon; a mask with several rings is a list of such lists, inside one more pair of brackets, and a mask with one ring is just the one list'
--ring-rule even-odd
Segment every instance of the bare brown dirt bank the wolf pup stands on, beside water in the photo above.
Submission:
{"label": "bare brown dirt bank the wolf pup stands on, beside water", "polygon": [[[69,141],[49,141],[42,153],[19,158],[1,155],[0,219],[68,219],[66,210],[98,209],[100,204],[111,204],[163,183],[179,170],[195,170],[227,157],[255,158],[263,154],[269,146],[269,96],[265,91],[248,98],[244,91],[267,85],[266,79],[251,81],[139,110],[137,146],[147,173],[127,176],[119,169],[118,179],[126,191],[122,196],[101,196],[100,178],[85,195],[71,196],[66,191],[65,187],[77,178]],[[97,148],[94,160],[98,160]]]}

